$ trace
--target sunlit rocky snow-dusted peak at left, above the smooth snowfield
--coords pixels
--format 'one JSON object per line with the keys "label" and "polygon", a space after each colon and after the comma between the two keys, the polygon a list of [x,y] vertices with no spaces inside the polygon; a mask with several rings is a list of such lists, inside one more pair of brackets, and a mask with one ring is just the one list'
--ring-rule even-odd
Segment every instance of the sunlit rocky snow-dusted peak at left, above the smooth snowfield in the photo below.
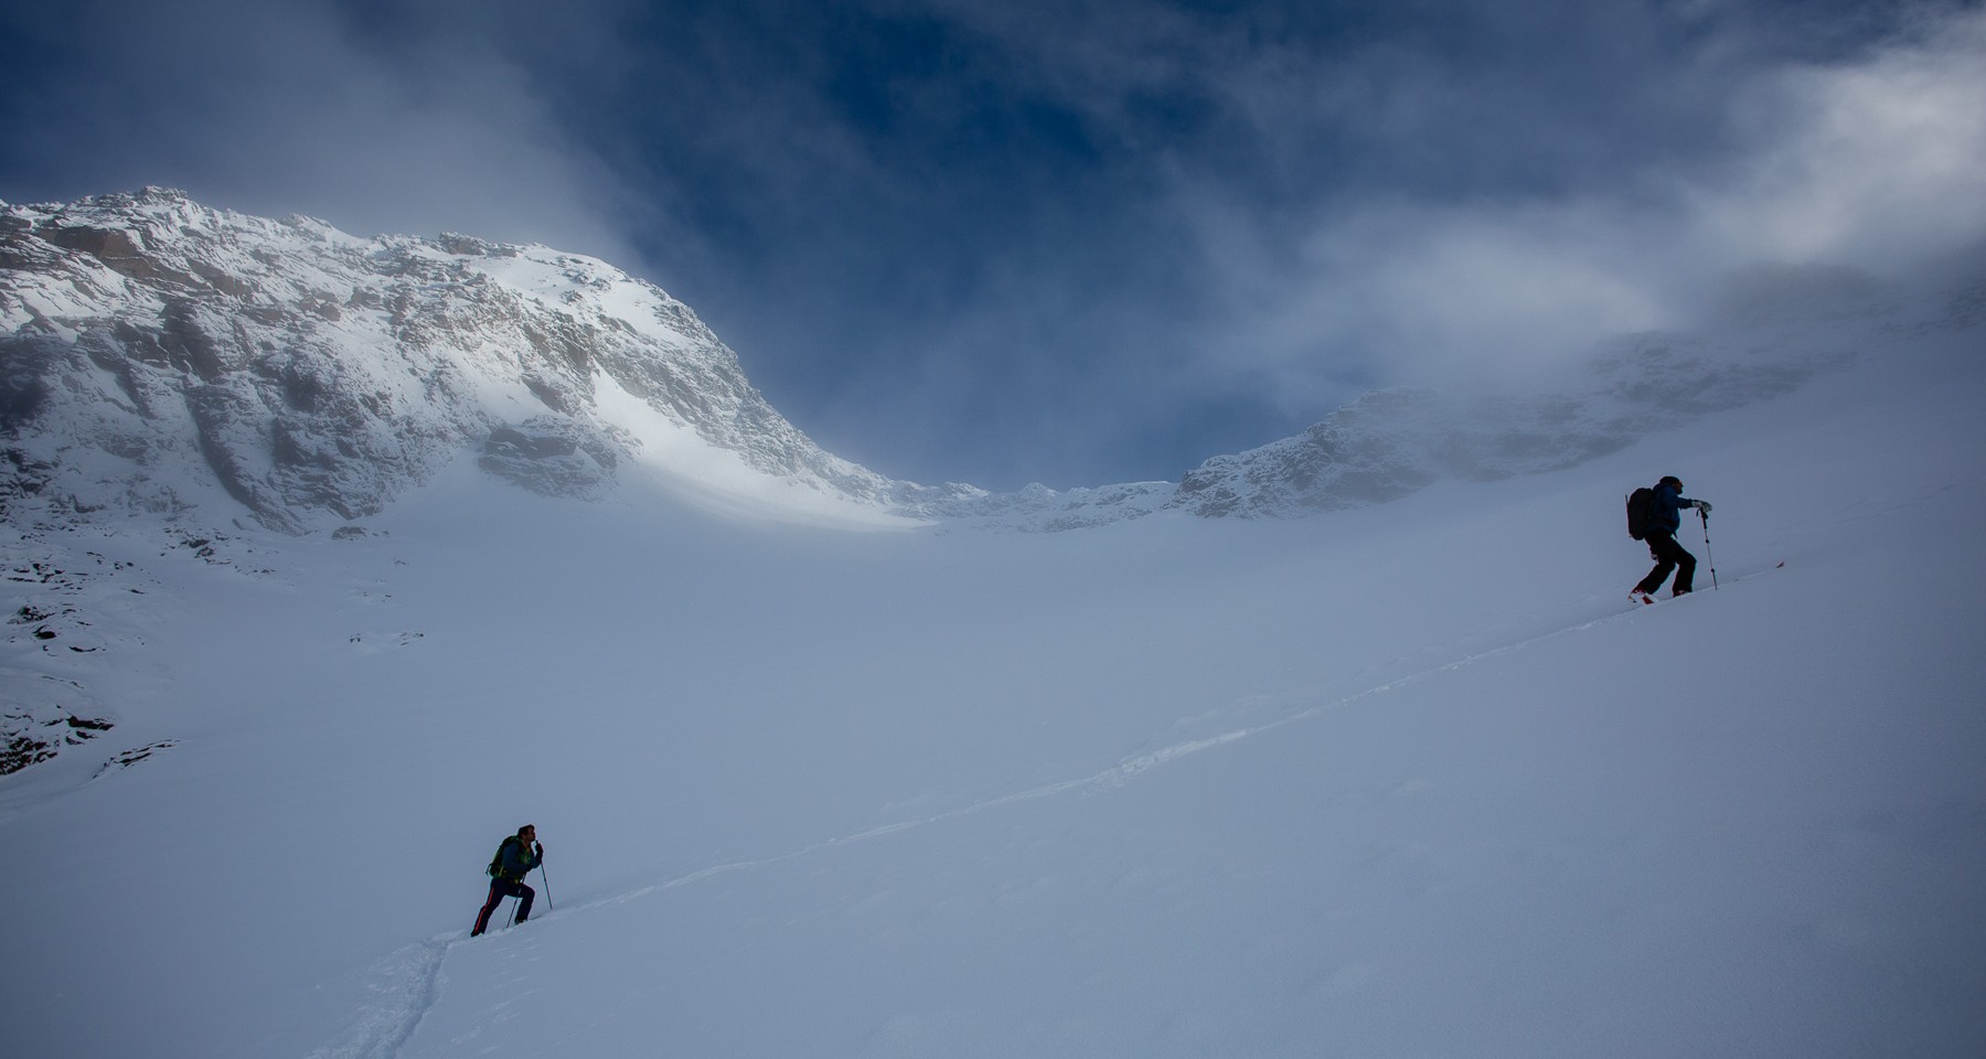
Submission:
{"label": "sunlit rocky snow-dusted peak at left, above the smooth snowfield", "polygon": [[[782,419],[737,356],[600,260],[354,238],[147,189],[0,211],[12,489],[290,532],[379,513],[465,451],[602,497],[630,467],[719,505],[890,523],[888,481]],[[965,491],[971,493],[971,491]]]}

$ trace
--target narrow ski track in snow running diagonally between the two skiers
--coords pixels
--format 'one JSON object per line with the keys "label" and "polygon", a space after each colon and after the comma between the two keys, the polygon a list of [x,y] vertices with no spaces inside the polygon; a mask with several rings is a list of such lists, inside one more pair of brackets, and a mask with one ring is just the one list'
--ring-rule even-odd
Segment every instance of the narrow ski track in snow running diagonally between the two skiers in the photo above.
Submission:
{"label": "narrow ski track in snow running diagonally between the two skiers", "polygon": [[[1779,562],[1779,566],[1785,566],[1785,564]],[[1770,574],[1770,572],[1773,572],[1779,566],[1768,566],[1764,570],[1752,570],[1752,572],[1746,572],[1746,574],[1726,576],[1724,580],[1730,582],[1730,584],[1740,584],[1740,582],[1752,580],[1756,576]],[[1712,590],[1700,590],[1698,594],[1702,594],[1702,592],[1712,592]],[[1589,602],[1597,604],[1601,598],[1603,596],[1591,596]],[[1261,735],[1265,731],[1275,731],[1279,727],[1287,727],[1287,725],[1295,725],[1295,723],[1301,723],[1301,721],[1309,721],[1309,719],[1321,717],[1325,713],[1335,713],[1335,711],[1358,705],[1358,703],[1362,703],[1366,699],[1384,695],[1388,691],[1396,691],[1400,687],[1408,687],[1412,683],[1420,683],[1424,680],[1430,680],[1430,678],[1436,678],[1436,676],[1442,676],[1442,674],[1464,670],[1464,668],[1476,666],[1478,662],[1488,662],[1491,658],[1501,658],[1505,654],[1521,652],[1525,648],[1531,648],[1535,644],[1543,644],[1547,640],[1557,640],[1561,636],[1573,636],[1577,632],[1599,628],[1599,626],[1605,626],[1605,624],[1611,624],[1611,622],[1621,622],[1621,620],[1627,620],[1627,618],[1634,618],[1634,616],[1642,614],[1644,610],[1648,610],[1644,604],[1631,602],[1631,600],[1627,600],[1623,596],[1623,606],[1621,608],[1613,608],[1607,614],[1589,618],[1585,622],[1577,622],[1577,624],[1571,624],[1571,626],[1555,628],[1551,632],[1543,632],[1539,636],[1531,636],[1531,638],[1525,638],[1525,640],[1515,640],[1515,642],[1509,642],[1509,644],[1503,644],[1503,646],[1497,646],[1497,648],[1490,648],[1490,650],[1484,650],[1484,652],[1468,654],[1468,656],[1462,656],[1462,658],[1458,658],[1454,662],[1444,662],[1440,666],[1432,666],[1428,670],[1420,670],[1416,674],[1408,674],[1404,678],[1390,680],[1386,683],[1376,683],[1372,687],[1366,687],[1364,691],[1354,691],[1350,695],[1333,699],[1329,703],[1317,703],[1317,705],[1297,707],[1297,709],[1291,709],[1289,713],[1285,713],[1281,717],[1275,717],[1271,721],[1263,721],[1263,723],[1253,725],[1253,727],[1237,727],[1237,729],[1231,729],[1231,731],[1223,731],[1219,735],[1209,735],[1209,737],[1204,737],[1204,739],[1190,739],[1190,741],[1184,741],[1184,743],[1174,743],[1174,745],[1156,749],[1152,753],[1142,753],[1142,755],[1136,755],[1136,757],[1128,757],[1128,759],[1124,759],[1124,761],[1120,761],[1120,763],[1116,763],[1116,765],[1112,765],[1112,767],[1108,767],[1108,769],[1104,769],[1100,773],[1092,773],[1092,775],[1086,775],[1086,777],[1080,777],[1080,779],[1064,779],[1064,781],[1057,781],[1057,783],[1047,783],[1047,785],[1041,785],[1041,787],[1031,787],[1027,791],[1017,791],[1017,793],[1011,793],[1011,795],[1001,795],[1001,797],[995,797],[995,799],[979,801],[979,803],[965,805],[965,807],[959,807],[959,809],[951,809],[951,811],[945,811],[945,813],[937,813],[937,815],[931,815],[931,817],[920,817],[920,819],[912,819],[912,821],[898,821],[898,823],[892,823],[892,825],[882,825],[882,827],[874,827],[874,829],[868,829],[868,831],[858,831],[854,834],[844,834],[840,838],[826,838],[822,842],[800,846],[800,848],[794,848],[790,852],[782,852],[782,854],[777,854],[777,856],[767,856],[767,858],[761,858],[761,860],[733,860],[733,862],[727,862],[727,864],[711,864],[707,868],[699,868],[699,870],[689,872],[685,876],[677,876],[677,878],[671,878],[671,880],[665,880],[665,882],[657,882],[653,886],[641,886],[638,890],[628,890],[626,894],[616,894],[616,896],[610,896],[610,898],[598,898],[598,900],[592,900],[592,902],[574,904],[574,906],[564,908],[562,912],[586,912],[586,910],[594,910],[594,908],[606,908],[606,906],[612,906],[612,904],[624,904],[624,902],[639,900],[639,898],[645,898],[649,894],[657,894],[657,892],[663,892],[663,890],[675,890],[679,886],[691,886],[691,884],[697,884],[697,882],[703,882],[707,878],[715,878],[715,876],[721,876],[721,874],[749,872],[749,870],[755,870],[755,868],[769,868],[769,866],[775,866],[775,864],[786,864],[786,862],[792,862],[792,860],[802,860],[802,858],[812,856],[812,854],[822,852],[822,850],[850,846],[850,844],[856,844],[856,842],[870,842],[870,840],[876,840],[876,838],[888,838],[892,834],[900,834],[900,832],[906,832],[906,831],[916,831],[916,829],[922,829],[922,827],[941,825],[941,823],[947,823],[947,821],[957,821],[957,819],[963,819],[963,817],[973,817],[973,815],[979,815],[979,813],[989,813],[989,811],[995,811],[995,809],[1001,809],[1001,807],[1009,807],[1009,805],[1017,805],[1017,803],[1025,803],[1025,801],[1051,799],[1051,797],[1068,795],[1068,793],[1112,791],[1112,789],[1124,787],[1126,783],[1138,779],[1140,775],[1144,775],[1144,773],[1148,773],[1152,769],[1158,769],[1162,765],[1170,765],[1170,763],[1180,761],[1184,757],[1192,757],[1196,753],[1209,751],[1209,749],[1215,749],[1215,747],[1225,747],[1229,743],[1237,743],[1241,739],[1249,739],[1249,737]],[[1265,699],[1267,701],[1273,701],[1273,699],[1301,699],[1301,693],[1247,695],[1247,697],[1243,697],[1239,701],[1251,703],[1251,705],[1259,705]],[[544,918],[550,918],[550,916],[544,916]],[[469,936],[467,934],[459,934],[459,932],[437,934],[437,936],[433,936],[433,938],[429,938],[425,942],[415,942],[415,944],[403,946],[403,948],[391,952],[389,956],[381,958],[379,962],[375,962],[369,968],[369,976],[373,978],[371,989],[373,989],[373,993],[377,993],[381,997],[381,1001],[375,1003],[373,1007],[365,1009],[359,1015],[359,1019],[357,1019],[357,1023],[355,1023],[355,1027],[354,1027],[352,1037],[350,1037],[348,1043],[336,1045],[336,1047],[322,1047],[318,1051],[312,1051],[308,1059],[397,1059],[397,1055],[401,1053],[401,1049],[407,1045],[407,1041],[413,1039],[413,1033],[421,1027],[421,1019],[427,1017],[427,1011],[433,1009],[435,1003],[441,1001],[441,991],[443,991],[441,987],[443,987],[443,982],[445,982],[443,964],[447,962],[449,952],[455,946],[459,946],[459,944],[463,944],[467,940],[469,940]],[[634,1003],[634,1001],[630,1001],[630,1003]],[[614,1017],[614,1013],[602,1015],[600,1019],[594,1019],[592,1023],[574,1029],[566,1039],[576,1037],[576,1035],[584,1033],[586,1029],[590,1029],[592,1025],[598,1025],[598,1023],[602,1023],[606,1019],[612,1019],[612,1017]]]}

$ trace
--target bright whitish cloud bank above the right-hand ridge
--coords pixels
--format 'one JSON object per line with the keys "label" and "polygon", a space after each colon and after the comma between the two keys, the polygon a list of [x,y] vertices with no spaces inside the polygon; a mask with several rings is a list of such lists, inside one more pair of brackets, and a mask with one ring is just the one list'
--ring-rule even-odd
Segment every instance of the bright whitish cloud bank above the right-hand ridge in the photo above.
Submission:
{"label": "bright whitish cloud bank above the right-hand ridge", "polygon": [[1285,238],[1229,189],[1182,187],[1231,320],[1206,372],[1257,374],[1287,405],[1347,381],[1509,381],[1607,334],[1684,326],[1754,262],[1883,274],[1986,238],[1986,14],[1720,81],[1718,149],[1549,195],[1356,193]]}

